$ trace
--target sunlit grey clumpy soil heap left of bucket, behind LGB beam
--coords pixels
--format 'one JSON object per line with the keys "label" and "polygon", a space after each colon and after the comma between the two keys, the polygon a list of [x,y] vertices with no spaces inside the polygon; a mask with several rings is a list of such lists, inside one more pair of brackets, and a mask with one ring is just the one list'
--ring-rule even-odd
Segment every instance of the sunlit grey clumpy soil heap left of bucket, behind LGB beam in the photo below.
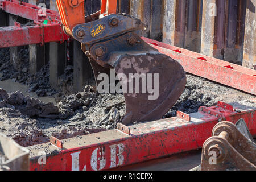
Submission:
{"label": "sunlit grey clumpy soil heap left of bucket, behind LGB beam", "polygon": [[31,146],[48,142],[51,135],[64,139],[113,129],[125,108],[108,110],[106,106],[121,100],[122,95],[99,95],[93,86],[86,86],[84,92],[71,94],[55,106],[19,91],[0,89],[0,132],[22,146]]}

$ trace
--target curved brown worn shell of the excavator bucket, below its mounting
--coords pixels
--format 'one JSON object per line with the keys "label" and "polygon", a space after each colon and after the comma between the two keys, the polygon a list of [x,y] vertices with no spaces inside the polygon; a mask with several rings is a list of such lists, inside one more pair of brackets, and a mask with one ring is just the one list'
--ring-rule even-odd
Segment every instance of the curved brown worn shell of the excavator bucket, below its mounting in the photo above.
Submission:
{"label": "curved brown worn shell of the excavator bucket, below its mounting", "polygon": [[[115,72],[127,77],[123,84],[131,91],[123,90],[126,115],[122,123],[125,125],[160,119],[179,99],[186,84],[183,67],[160,53],[124,55],[115,65]],[[134,83],[131,89],[130,83]]]}

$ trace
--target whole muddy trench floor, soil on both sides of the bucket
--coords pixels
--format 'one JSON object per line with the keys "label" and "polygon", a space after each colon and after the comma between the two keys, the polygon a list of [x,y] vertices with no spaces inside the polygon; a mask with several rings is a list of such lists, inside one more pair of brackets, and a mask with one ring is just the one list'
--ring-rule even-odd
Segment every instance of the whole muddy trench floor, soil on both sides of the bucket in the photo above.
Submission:
{"label": "whole muddy trench floor, soil on both sides of the bucket", "polygon": [[[35,75],[29,73],[28,51],[22,49],[22,65],[15,69],[9,50],[0,49],[0,132],[21,146],[110,130],[125,115],[122,94],[98,94],[94,81],[88,80],[84,91],[73,92],[73,67],[68,65],[60,76],[59,90],[49,84],[49,64]],[[200,106],[218,101],[234,102],[253,98],[250,94],[187,74],[186,88],[163,118],[176,111],[194,113]],[[146,109],[146,108],[145,108]]]}

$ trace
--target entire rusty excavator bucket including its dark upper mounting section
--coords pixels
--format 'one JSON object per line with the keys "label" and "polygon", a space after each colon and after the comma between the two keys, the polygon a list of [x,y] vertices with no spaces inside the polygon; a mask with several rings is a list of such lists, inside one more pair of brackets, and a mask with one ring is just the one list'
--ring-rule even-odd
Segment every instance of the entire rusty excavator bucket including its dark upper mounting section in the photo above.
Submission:
{"label": "entire rusty excavator bucket including its dark upper mounting section", "polygon": [[[129,38],[140,43],[129,46],[126,41]],[[97,56],[94,53],[101,48],[108,50],[108,56]],[[109,78],[112,77],[111,69],[115,72],[116,80],[121,82],[126,104],[126,115],[122,120],[125,125],[135,121],[160,119],[183,93],[186,84],[183,67],[133,33],[105,43],[96,43],[90,48],[90,52],[90,63],[97,85],[100,84],[97,79],[99,74],[105,73]],[[115,81],[110,81],[109,85],[109,93],[118,91]],[[97,89],[101,88],[97,86]],[[115,92],[110,92],[111,89]]]}

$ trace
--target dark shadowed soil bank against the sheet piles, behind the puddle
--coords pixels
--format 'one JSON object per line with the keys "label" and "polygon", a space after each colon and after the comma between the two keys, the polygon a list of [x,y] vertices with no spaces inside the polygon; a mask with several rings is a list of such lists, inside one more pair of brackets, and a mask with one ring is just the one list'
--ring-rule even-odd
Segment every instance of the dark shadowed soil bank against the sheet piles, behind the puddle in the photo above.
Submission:
{"label": "dark shadowed soil bank against the sheet piles, behind the puddle", "polygon": [[35,92],[38,97],[53,96],[60,101],[73,91],[73,67],[68,65],[59,77],[59,90],[51,88],[49,82],[49,63],[44,65],[35,75],[29,71],[28,49],[21,49],[19,68],[14,68],[10,60],[9,48],[0,49],[0,81],[11,79],[13,82],[28,85],[28,92]]}

